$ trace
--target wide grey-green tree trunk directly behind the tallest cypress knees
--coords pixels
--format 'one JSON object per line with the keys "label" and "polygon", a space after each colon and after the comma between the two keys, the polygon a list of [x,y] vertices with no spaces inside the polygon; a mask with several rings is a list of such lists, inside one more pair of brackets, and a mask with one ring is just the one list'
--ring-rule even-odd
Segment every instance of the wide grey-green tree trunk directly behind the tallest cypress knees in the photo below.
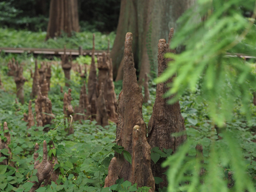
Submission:
{"label": "wide grey-green tree trunk directly behind the tallest cypress knees", "polygon": [[118,72],[118,68],[123,58],[126,32],[134,35],[134,62],[139,70],[139,84],[142,84],[144,74],[156,68],[158,40],[167,39],[169,29],[177,27],[176,20],[193,2],[195,0],[122,0],[117,36],[110,54],[114,77],[122,79],[122,74],[118,74],[122,70]]}

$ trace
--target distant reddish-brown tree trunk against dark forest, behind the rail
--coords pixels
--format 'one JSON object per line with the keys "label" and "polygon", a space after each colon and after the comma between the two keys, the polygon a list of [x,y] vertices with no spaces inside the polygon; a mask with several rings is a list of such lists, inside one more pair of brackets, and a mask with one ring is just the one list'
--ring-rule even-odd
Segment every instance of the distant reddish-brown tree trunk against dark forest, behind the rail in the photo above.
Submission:
{"label": "distant reddish-brown tree trunk against dark forest, behind the rail", "polygon": [[68,36],[79,32],[77,0],[51,0],[46,40],[60,36],[62,31]]}

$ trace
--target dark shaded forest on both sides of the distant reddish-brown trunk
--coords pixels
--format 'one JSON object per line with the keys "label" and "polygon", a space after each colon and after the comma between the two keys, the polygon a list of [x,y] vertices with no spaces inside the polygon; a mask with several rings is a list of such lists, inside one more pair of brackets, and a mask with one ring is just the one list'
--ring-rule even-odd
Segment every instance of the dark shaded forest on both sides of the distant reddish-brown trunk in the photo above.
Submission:
{"label": "dark shaded forest on both sides of the distant reddish-brown trunk", "polygon": [[[79,0],[80,31],[115,31],[120,2],[121,0]],[[50,0],[0,0],[0,25],[16,30],[47,31],[49,4]]]}

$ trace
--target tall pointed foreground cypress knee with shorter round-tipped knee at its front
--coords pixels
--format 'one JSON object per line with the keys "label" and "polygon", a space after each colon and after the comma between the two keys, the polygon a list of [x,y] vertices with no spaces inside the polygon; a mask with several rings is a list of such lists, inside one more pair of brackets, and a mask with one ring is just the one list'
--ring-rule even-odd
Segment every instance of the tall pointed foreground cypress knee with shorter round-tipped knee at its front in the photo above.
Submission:
{"label": "tall pointed foreground cypress knee with shorter round-tipped knee at its front", "polygon": [[123,65],[123,90],[118,99],[117,144],[131,154],[133,165],[122,154],[116,153],[119,178],[138,187],[150,186],[155,189],[155,181],[150,166],[150,146],[146,139],[146,123],[142,116],[143,96],[134,68],[132,52],[133,34],[125,39],[125,59]]}

